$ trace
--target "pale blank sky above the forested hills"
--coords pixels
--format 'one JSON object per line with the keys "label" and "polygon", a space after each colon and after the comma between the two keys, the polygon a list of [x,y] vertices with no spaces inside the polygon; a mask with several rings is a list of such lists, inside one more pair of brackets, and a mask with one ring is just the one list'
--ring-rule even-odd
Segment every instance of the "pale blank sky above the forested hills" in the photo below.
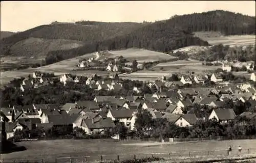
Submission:
{"label": "pale blank sky above the forested hills", "polygon": [[154,22],[212,10],[255,16],[255,1],[1,1],[1,31],[21,32],[55,20]]}

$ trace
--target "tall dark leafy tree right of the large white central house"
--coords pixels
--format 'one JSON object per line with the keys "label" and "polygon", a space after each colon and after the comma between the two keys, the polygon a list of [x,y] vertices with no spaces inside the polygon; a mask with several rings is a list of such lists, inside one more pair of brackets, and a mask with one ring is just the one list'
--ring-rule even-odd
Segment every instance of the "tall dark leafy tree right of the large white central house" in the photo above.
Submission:
{"label": "tall dark leafy tree right of the large white central house", "polygon": [[137,135],[143,137],[152,126],[152,115],[148,111],[140,111],[136,114],[135,128]]}

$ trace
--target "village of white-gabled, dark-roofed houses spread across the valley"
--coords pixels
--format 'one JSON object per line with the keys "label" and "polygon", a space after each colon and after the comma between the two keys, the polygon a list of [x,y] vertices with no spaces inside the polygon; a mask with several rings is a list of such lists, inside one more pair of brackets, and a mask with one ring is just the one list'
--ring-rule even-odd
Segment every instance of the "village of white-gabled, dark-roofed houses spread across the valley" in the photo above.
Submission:
{"label": "village of white-gabled, dark-roofed houses spread across the valley", "polygon": [[[121,58],[121,60],[124,59]],[[93,58],[90,58],[85,62],[80,62],[78,66],[80,68],[87,67],[94,61]],[[115,63],[118,61],[120,58],[114,60]],[[114,74],[105,78],[98,77],[97,74],[91,77],[74,74],[55,76],[35,71],[23,79],[16,89],[25,92],[60,82],[64,86],[68,83],[77,83],[86,85],[95,91],[104,90],[115,93],[124,89],[123,80],[117,73],[119,68],[120,66],[116,64],[108,64],[104,70],[113,71]],[[221,68],[224,73],[231,71],[231,66],[224,63]],[[253,64],[246,68],[252,69]],[[71,130],[75,127],[81,128],[89,135],[103,134],[115,126],[115,121],[123,122],[125,127],[134,131],[136,130],[136,113],[140,111],[150,112],[155,119],[166,118],[179,127],[193,126],[198,120],[208,119],[227,123],[239,115],[255,119],[256,114],[253,113],[256,109],[256,90],[255,85],[253,86],[255,73],[251,73],[248,82],[236,84],[232,81],[223,81],[223,72],[205,74],[204,76],[176,75],[177,79],[173,79],[173,81],[167,79],[172,76],[162,76],[155,81],[143,82],[142,87],[134,86],[131,96],[95,96],[93,100],[78,100],[74,103],[34,103],[24,106],[2,101],[1,123],[5,127],[2,128],[1,133],[4,134],[4,138],[12,139],[14,132],[19,129],[31,130],[36,127],[49,129],[53,126],[64,126]],[[211,83],[212,86],[203,87],[205,83]],[[197,86],[189,87],[194,84]],[[143,94],[143,87],[154,91],[152,94]],[[233,108],[225,108],[225,103],[230,100],[239,105],[246,103],[248,105],[246,112],[237,115]],[[199,116],[193,111],[195,104],[207,106],[211,108],[211,112],[207,116]]]}

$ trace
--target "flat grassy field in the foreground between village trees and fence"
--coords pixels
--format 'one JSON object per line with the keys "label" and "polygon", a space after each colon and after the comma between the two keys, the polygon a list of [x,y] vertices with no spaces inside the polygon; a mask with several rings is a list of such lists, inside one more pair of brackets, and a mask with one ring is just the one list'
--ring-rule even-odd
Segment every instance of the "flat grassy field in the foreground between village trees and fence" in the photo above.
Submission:
{"label": "flat grassy field in the foreground between village trees and fence", "polygon": [[[134,144],[136,143],[136,144]],[[239,145],[243,149],[250,149],[250,153],[256,153],[256,140],[234,140],[234,141],[207,141],[207,142],[184,142],[184,143],[157,143],[147,142],[139,143],[139,141],[115,142],[114,140],[44,140],[44,141],[27,141],[19,142],[17,145],[25,146],[26,151],[13,152],[9,154],[1,154],[2,160],[11,159],[52,159],[56,157],[70,156],[104,156],[104,159],[114,159],[116,155],[120,155],[120,159],[133,158],[133,154],[138,157],[146,157],[149,153],[172,153],[173,156],[187,156],[190,151],[191,156],[194,153],[197,155],[226,155],[226,150],[229,145],[233,147],[235,154]],[[223,150],[223,151],[214,151]],[[209,151],[209,152],[207,152]],[[244,150],[247,153],[247,150]],[[176,153],[173,153],[176,152]],[[201,154],[200,154],[201,153]],[[169,155],[169,154],[167,154]],[[137,158],[138,158],[137,157]],[[160,156],[159,157],[167,157]],[[92,157],[90,157],[93,159]],[[69,161],[69,160],[68,160]],[[62,162],[62,161],[61,161]]]}

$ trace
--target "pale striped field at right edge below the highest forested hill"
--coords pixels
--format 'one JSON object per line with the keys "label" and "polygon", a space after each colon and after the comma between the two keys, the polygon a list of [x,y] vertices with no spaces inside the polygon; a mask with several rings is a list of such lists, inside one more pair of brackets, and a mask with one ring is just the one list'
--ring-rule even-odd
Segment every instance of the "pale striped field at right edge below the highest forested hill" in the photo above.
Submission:
{"label": "pale striped field at right edge below the highest forested hill", "polygon": [[211,45],[255,45],[255,35],[236,35],[203,38]]}

